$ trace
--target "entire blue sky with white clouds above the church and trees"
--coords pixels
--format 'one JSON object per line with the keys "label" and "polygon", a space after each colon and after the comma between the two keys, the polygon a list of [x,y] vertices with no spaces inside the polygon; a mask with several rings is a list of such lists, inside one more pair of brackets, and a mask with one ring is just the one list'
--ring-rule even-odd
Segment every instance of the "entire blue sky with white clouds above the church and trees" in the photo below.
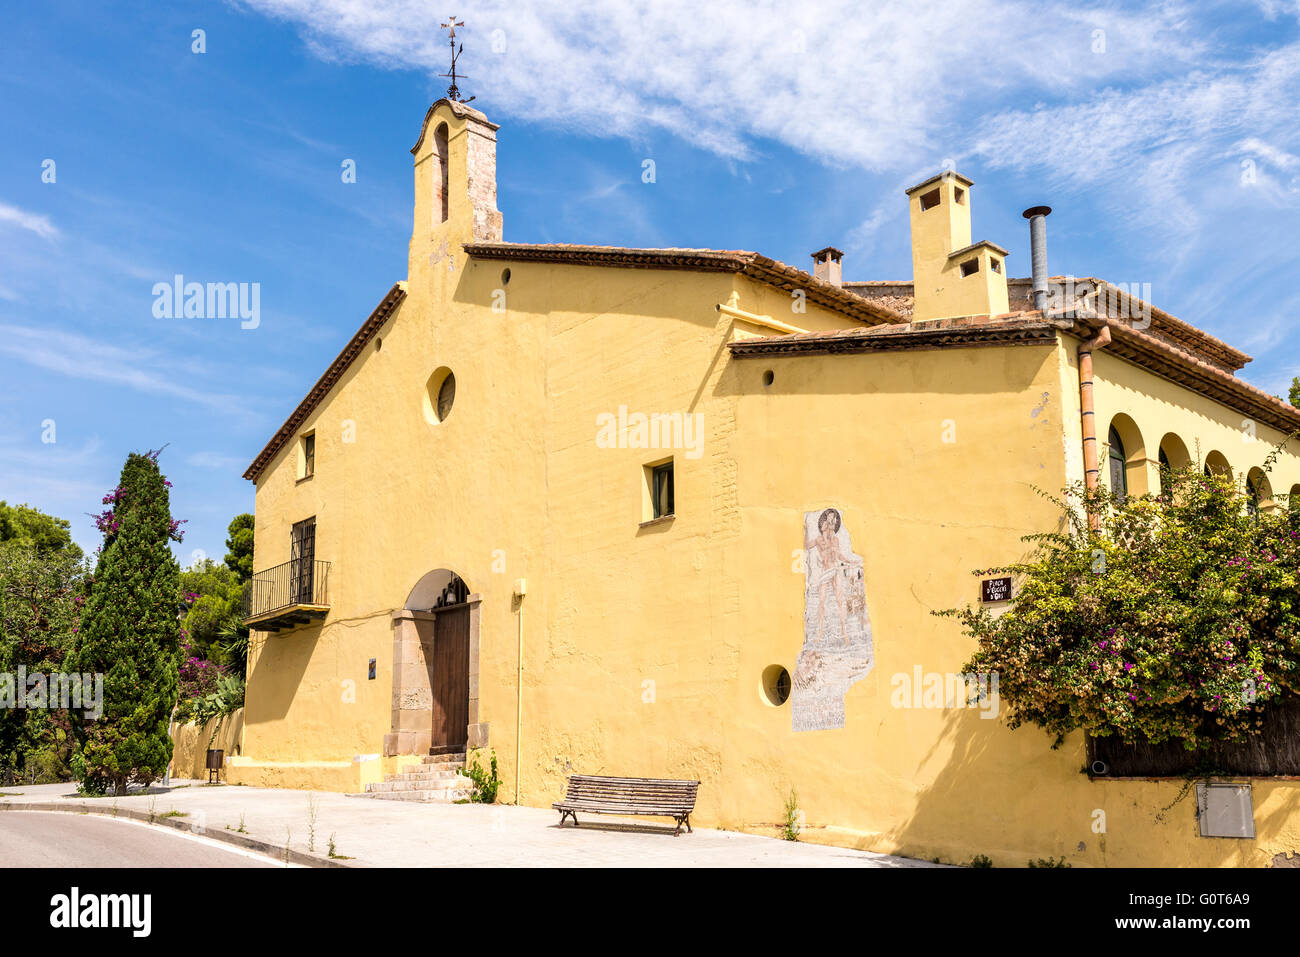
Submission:
{"label": "entire blue sky with white clouds above the church and trees", "polygon": [[[910,280],[902,190],[953,166],[1011,276],[1045,203],[1052,273],[1149,283],[1270,393],[1300,374],[1300,0],[9,1],[0,499],[94,551],[165,446],[178,558],[224,558],[244,468],[404,278],[452,8],[507,241]],[[255,328],[157,315],[177,274],[256,283]]]}

